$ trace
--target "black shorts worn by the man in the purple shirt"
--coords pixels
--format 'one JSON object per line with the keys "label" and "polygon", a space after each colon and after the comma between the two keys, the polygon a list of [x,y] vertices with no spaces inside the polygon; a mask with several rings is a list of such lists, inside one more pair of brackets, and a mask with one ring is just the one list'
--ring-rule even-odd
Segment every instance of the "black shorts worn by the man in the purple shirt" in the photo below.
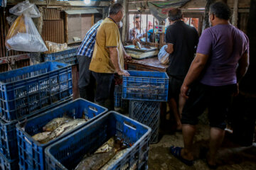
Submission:
{"label": "black shorts worn by the man in the purple shirt", "polygon": [[228,113],[232,94],[236,85],[207,86],[194,84],[182,111],[182,124],[198,124],[198,116],[208,108],[210,127],[225,129],[225,117]]}

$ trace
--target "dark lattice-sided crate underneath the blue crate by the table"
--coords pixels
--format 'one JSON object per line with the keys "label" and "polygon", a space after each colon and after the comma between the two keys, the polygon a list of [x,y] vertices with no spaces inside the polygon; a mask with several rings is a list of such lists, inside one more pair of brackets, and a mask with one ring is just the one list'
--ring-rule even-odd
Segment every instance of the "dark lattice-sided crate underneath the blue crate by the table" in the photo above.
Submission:
{"label": "dark lattice-sided crate underneath the blue crate by the table", "polygon": [[160,103],[154,101],[130,101],[129,117],[149,126],[151,131],[150,143],[158,142],[160,123]]}

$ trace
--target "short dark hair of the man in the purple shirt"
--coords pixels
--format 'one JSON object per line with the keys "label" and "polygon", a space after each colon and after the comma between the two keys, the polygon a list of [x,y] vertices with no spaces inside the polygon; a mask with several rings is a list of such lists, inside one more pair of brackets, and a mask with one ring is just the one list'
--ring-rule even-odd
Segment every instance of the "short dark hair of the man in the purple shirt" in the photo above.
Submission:
{"label": "short dark hair of the man in the purple shirt", "polygon": [[224,20],[229,20],[231,16],[230,7],[223,2],[215,2],[210,5],[210,13],[213,13],[216,17]]}

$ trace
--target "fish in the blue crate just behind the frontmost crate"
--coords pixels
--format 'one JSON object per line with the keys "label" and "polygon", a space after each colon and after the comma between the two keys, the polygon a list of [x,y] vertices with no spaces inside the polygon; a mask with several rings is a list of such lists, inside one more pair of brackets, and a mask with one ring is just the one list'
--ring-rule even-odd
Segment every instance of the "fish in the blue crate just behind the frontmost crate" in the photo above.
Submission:
{"label": "fish in the blue crate just behind the frontmost crate", "polygon": [[45,126],[43,126],[43,132],[33,135],[33,139],[45,144],[50,140],[63,135],[70,130],[75,129],[79,125],[82,125],[87,120],[85,119],[73,119],[73,118],[54,118],[50,120]]}

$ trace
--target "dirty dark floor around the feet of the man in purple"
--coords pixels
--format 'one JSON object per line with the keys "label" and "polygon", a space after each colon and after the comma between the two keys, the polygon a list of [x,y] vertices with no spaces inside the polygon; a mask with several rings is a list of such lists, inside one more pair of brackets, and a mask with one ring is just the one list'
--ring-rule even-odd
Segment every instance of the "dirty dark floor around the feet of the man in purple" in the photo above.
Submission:
{"label": "dirty dark floor around the feet of the man in purple", "polygon": [[[183,137],[181,132],[169,134],[159,132],[161,138],[157,144],[150,145],[149,148],[149,170],[172,170],[172,169],[209,169],[206,165],[206,150],[208,149],[208,125],[198,125],[194,143],[195,164],[186,166],[174,156],[169,154],[169,147],[172,145],[183,147]],[[256,146],[240,147],[233,144],[225,137],[223,146],[220,148],[217,157],[218,169],[256,169]]]}

